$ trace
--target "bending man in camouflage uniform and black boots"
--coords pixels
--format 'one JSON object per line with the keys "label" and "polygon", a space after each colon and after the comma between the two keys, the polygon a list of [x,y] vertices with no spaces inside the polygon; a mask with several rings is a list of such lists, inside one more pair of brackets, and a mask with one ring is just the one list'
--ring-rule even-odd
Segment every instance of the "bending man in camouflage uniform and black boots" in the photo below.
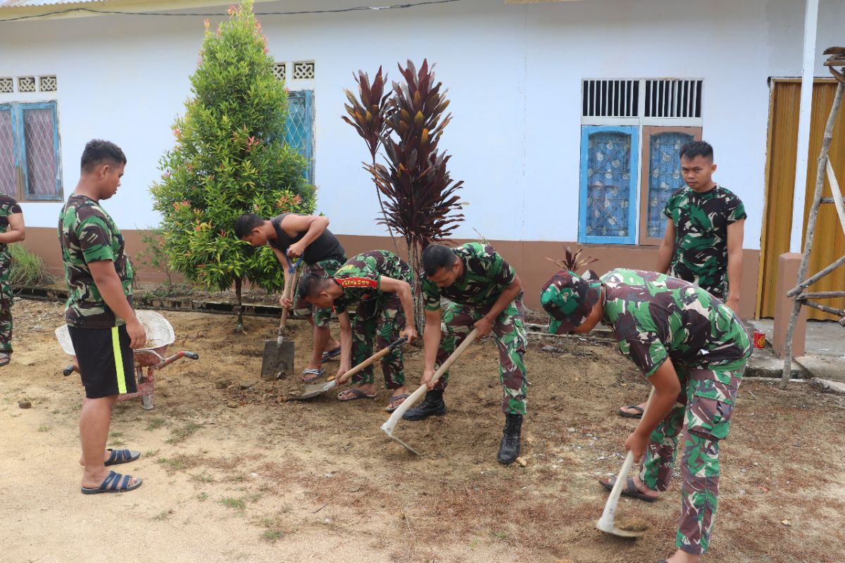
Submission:
{"label": "bending man in camouflage uniform and black boots", "polygon": [[[505,423],[499,445],[499,463],[512,463],[520,452],[522,416],[526,414],[526,331],[521,313],[522,283],[510,264],[491,246],[470,242],[456,248],[429,245],[423,251],[423,298],[426,326],[423,333],[423,383],[437,366],[463,342],[472,328],[479,337],[491,331],[499,348],[499,382],[504,388]],[[442,309],[440,299],[449,300]],[[442,327],[441,327],[442,324]],[[442,338],[441,338],[442,334]],[[443,391],[449,372],[429,384],[425,400],[404,418],[423,420],[445,414]]]}

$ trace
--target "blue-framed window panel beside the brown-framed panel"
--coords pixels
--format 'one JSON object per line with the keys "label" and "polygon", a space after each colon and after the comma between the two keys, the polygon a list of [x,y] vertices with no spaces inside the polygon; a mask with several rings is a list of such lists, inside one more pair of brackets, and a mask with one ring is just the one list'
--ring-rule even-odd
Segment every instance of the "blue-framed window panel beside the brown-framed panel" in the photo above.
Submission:
{"label": "blue-framed window panel beside the brown-framed panel", "polygon": [[581,127],[578,241],[635,244],[638,127]]}

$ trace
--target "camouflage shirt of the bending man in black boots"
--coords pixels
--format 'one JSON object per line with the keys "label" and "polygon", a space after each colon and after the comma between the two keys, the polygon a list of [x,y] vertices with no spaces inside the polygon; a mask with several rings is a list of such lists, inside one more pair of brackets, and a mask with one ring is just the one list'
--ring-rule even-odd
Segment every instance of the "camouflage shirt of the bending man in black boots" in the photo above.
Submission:
{"label": "camouflage shirt of the bending man in black boots", "polygon": [[438,287],[423,277],[426,311],[437,311],[440,298],[472,306],[490,306],[513,283],[516,273],[492,246],[467,242],[452,249],[464,263],[464,273],[449,287]]}

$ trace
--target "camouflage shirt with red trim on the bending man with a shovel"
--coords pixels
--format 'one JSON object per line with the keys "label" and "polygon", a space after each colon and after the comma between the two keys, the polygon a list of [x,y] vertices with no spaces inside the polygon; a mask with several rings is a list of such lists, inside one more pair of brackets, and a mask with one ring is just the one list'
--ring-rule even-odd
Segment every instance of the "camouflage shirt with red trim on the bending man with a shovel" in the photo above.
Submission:
{"label": "camouflage shirt with red trim on the bending man with a shovel", "polygon": [[357,305],[360,312],[364,311],[361,305],[375,306],[382,294],[379,289],[382,276],[413,283],[411,267],[393,252],[371,250],[347,260],[332,276],[343,289],[343,295],[335,299],[335,311],[342,313]]}

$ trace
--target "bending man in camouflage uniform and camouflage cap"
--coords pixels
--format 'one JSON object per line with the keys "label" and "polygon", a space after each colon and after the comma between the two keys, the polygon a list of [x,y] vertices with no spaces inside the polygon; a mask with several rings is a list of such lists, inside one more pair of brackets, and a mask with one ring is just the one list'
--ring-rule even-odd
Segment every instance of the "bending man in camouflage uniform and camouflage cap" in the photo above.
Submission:
{"label": "bending man in camouflage uniform and camouflage cap", "polygon": [[[700,287],[666,274],[615,269],[598,279],[565,270],[543,288],[550,333],[613,328],[619,351],[655,388],[651,406],[625,441],[639,476],[622,494],[654,501],[668,489],[684,427],[681,522],[672,563],[697,561],[710,542],[719,487],[719,443],[751,354],[736,313]],[[679,403],[679,404],[676,404]],[[613,488],[613,479],[602,482]]]}

